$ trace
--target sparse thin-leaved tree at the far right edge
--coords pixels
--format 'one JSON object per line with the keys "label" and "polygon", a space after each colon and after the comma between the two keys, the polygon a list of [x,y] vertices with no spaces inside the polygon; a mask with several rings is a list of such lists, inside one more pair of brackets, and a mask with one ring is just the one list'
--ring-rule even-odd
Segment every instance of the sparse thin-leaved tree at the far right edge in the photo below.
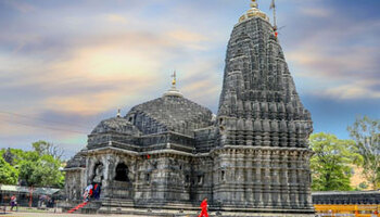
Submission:
{"label": "sparse thin-leaved tree at the far right edge", "polygon": [[357,117],[352,126],[347,127],[350,136],[355,140],[358,154],[363,157],[364,175],[372,188],[380,187],[380,119],[367,116]]}

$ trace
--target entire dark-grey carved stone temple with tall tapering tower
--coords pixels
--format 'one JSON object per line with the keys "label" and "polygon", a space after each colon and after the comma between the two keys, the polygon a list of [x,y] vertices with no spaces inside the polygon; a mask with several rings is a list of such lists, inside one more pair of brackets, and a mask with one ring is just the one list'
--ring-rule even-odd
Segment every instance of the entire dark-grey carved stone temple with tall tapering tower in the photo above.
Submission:
{"label": "entire dark-grey carved stone temple with tall tapering tower", "polygon": [[207,196],[219,215],[313,216],[311,114],[255,1],[228,42],[217,115],[173,85],[92,130],[65,168],[71,201],[96,182],[100,210],[197,210]]}

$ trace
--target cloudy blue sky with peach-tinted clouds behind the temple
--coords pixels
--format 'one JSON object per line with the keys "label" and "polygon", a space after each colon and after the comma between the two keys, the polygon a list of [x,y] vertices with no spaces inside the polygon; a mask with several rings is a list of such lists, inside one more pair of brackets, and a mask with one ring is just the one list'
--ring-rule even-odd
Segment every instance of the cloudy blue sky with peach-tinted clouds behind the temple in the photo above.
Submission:
{"label": "cloudy blue sky with peach-tinted clouds behind the temple", "polygon": [[[226,47],[249,0],[0,0],[0,148],[71,157],[97,124],[160,98],[217,113]],[[271,17],[269,0],[259,9]],[[380,118],[380,1],[277,0],[279,41],[315,132]]]}

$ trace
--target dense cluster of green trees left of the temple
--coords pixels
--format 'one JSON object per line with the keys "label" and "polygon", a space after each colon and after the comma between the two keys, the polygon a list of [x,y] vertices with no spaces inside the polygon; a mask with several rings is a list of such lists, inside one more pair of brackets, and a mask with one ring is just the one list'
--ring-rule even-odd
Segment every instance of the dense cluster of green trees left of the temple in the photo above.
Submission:
{"label": "dense cluster of green trees left of the temple", "polygon": [[[16,149],[0,151],[0,183],[15,184],[21,180],[27,186],[62,188],[64,186],[64,174],[60,170],[62,162],[59,155],[53,155],[53,151],[58,149],[45,141],[33,143],[33,148],[35,151]],[[3,155],[11,159],[12,165],[2,158]],[[3,178],[7,177],[9,169],[16,175],[15,178],[10,179],[11,181]]]}

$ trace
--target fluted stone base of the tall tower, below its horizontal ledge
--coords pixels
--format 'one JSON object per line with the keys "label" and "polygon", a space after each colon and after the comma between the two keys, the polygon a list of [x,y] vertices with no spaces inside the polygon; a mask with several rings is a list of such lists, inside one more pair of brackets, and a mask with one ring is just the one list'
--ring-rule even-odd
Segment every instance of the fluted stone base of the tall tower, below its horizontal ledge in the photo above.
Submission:
{"label": "fluted stone base of the tall tower, below its horizontal ledge", "polygon": [[313,212],[308,149],[227,145],[212,152],[214,203]]}

